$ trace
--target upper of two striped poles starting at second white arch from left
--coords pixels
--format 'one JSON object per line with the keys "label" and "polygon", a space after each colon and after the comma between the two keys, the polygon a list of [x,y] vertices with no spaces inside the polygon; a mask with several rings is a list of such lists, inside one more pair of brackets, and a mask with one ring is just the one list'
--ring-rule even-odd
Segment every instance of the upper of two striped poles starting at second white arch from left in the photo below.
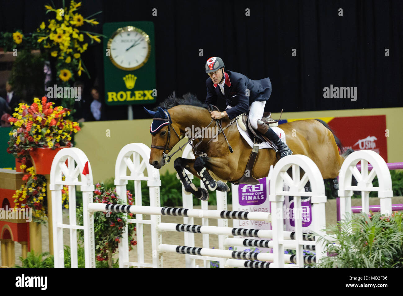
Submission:
{"label": "upper of two striped poles starting at second white arch from left", "polygon": [[[160,223],[158,224],[158,230],[202,233],[202,234],[249,236],[253,238],[273,238],[272,230],[250,229],[250,228],[231,228],[231,227],[204,226],[204,225],[192,225],[192,224]],[[295,232],[285,231],[284,239],[295,240]],[[304,233],[303,240],[314,240],[314,236],[312,236],[311,233]]]}

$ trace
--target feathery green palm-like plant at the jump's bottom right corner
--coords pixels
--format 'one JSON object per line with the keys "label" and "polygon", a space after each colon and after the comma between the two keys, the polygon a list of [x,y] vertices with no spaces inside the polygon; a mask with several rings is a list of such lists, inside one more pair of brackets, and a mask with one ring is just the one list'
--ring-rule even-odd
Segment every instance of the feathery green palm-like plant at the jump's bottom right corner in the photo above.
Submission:
{"label": "feathery green palm-like plant at the jump's bottom right corner", "polygon": [[[323,257],[320,268],[402,268],[403,213],[391,216],[360,213],[327,229],[329,236],[320,236],[333,257]],[[330,238],[329,238],[330,237]],[[338,243],[331,242],[336,239]]]}

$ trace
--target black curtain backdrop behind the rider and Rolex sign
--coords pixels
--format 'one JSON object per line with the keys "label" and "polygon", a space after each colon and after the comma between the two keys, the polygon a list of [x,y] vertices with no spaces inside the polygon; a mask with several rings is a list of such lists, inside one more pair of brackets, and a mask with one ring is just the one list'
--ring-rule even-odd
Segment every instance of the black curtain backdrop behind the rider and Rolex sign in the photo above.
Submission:
{"label": "black curtain backdrop behind the rider and Rolex sign", "polygon": [[[172,91],[195,93],[204,101],[204,63],[220,56],[228,70],[250,79],[270,77],[266,109],[272,112],[403,106],[400,0],[82,2],[84,17],[103,11],[97,16],[98,32],[106,22],[154,22],[158,101]],[[27,33],[46,19],[44,5],[51,2],[0,3],[0,31]],[[153,8],[157,16],[152,16]],[[291,55],[293,48],[297,56]],[[386,48],[390,56],[385,56]],[[103,87],[103,54],[102,45],[94,45],[83,55],[91,73],[87,91],[93,83]],[[323,88],[331,84],[357,87],[357,100],[325,99]],[[135,109],[135,118],[147,118],[140,106]],[[121,107],[108,107],[107,113],[108,119],[126,116]]]}

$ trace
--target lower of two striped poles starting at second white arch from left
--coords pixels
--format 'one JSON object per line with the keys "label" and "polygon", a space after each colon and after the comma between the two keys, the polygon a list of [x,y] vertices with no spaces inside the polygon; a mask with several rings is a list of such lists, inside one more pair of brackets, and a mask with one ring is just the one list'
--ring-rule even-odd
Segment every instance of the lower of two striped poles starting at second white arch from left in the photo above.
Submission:
{"label": "lower of two striped poles starting at second white arch from left", "polygon": [[[177,246],[173,244],[160,244],[158,246],[160,252],[187,254],[187,255],[199,255],[220,257],[229,259],[242,259],[253,261],[273,261],[274,255],[272,253],[258,253],[258,252],[239,252],[231,250],[219,250],[210,248],[197,248],[191,246]],[[297,259],[295,255],[284,255],[285,263],[296,263]],[[314,256],[304,256],[303,261],[308,264],[315,262]]]}

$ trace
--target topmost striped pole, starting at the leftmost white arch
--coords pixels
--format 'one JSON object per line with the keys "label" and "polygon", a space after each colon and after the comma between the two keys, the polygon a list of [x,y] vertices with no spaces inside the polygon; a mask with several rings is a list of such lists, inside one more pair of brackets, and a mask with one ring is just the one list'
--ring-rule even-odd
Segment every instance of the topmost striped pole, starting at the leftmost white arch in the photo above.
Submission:
{"label": "topmost striped pole, starting at the leftmost white arch", "polygon": [[212,219],[238,219],[253,221],[270,221],[270,213],[257,213],[246,211],[220,211],[220,210],[201,210],[201,209],[183,209],[175,207],[149,207],[142,205],[117,205],[105,203],[89,203],[89,211],[93,212],[118,212],[146,215],[165,215],[195,218]]}

